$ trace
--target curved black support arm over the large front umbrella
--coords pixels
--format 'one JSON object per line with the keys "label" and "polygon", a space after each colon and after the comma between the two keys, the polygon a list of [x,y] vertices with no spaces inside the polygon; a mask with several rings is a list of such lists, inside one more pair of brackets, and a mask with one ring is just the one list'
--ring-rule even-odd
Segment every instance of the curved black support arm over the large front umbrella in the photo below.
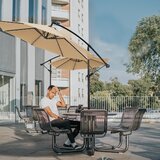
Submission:
{"label": "curved black support arm over the large front umbrella", "polygon": [[81,40],[88,46],[88,48],[91,48],[92,51],[101,59],[101,61],[105,64],[106,68],[109,68],[109,64],[106,63],[106,62],[103,60],[103,58],[95,51],[95,49],[94,49],[89,43],[87,43],[82,37],[80,37],[80,36],[79,36],[78,34],[76,34],[75,32],[71,31],[70,29],[68,29],[68,28],[60,25],[57,21],[52,21],[50,27],[52,27],[53,24],[55,24],[55,25],[57,25],[57,26],[59,26],[59,27],[62,27],[63,29],[69,31],[70,33],[74,34],[76,37],[78,37],[79,39],[81,39]]}

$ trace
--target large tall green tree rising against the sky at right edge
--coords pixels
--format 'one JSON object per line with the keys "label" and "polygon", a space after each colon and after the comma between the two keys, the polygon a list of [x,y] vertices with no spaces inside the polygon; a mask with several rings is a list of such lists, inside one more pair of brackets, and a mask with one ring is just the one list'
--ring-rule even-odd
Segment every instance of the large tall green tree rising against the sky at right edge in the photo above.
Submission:
{"label": "large tall green tree rising against the sky at right edge", "polygon": [[[150,77],[160,85],[160,16],[143,18],[129,42],[127,71]],[[159,88],[159,87],[157,87]]]}

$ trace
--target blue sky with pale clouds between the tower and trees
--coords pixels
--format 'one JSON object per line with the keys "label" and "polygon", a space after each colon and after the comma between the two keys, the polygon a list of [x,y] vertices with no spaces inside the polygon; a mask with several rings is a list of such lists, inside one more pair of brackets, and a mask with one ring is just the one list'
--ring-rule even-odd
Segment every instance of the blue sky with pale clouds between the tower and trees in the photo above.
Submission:
{"label": "blue sky with pale clouds between the tower and trees", "polygon": [[137,75],[126,73],[128,44],[143,17],[160,15],[160,0],[89,0],[90,44],[101,57],[109,58],[110,68],[100,70],[100,79],[111,78],[126,84]]}

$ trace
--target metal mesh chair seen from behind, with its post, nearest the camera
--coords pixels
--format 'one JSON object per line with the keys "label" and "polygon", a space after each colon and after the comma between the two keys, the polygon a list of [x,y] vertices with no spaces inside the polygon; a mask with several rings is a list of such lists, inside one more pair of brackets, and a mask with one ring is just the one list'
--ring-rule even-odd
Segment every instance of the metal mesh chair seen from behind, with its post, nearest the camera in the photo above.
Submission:
{"label": "metal mesh chair seen from behind, with its post, nearest the camera", "polygon": [[80,134],[84,138],[87,154],[94,155],[95,135],[103,137],[107,133],[107,111],[82,110],[80,115]]}

